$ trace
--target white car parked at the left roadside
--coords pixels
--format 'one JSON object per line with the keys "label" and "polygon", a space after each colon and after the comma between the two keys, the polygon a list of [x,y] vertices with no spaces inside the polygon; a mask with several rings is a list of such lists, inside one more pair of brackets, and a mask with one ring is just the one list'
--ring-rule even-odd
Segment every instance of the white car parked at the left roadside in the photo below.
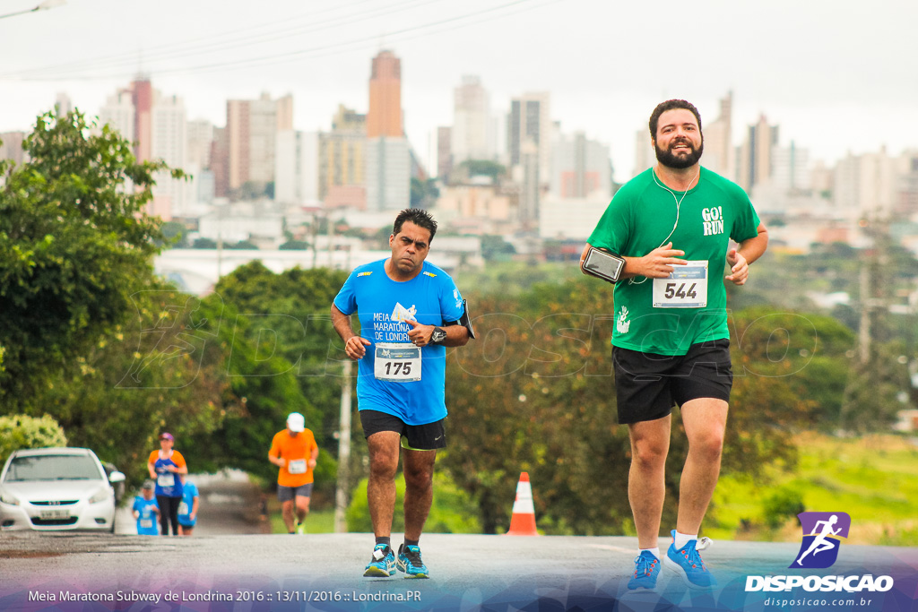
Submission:
{"label": "white car parked at the left roadside", "polygon": [[115,531],[115,490],[124,474],[89,449],[13,451],[0,473],[0,529]]}

